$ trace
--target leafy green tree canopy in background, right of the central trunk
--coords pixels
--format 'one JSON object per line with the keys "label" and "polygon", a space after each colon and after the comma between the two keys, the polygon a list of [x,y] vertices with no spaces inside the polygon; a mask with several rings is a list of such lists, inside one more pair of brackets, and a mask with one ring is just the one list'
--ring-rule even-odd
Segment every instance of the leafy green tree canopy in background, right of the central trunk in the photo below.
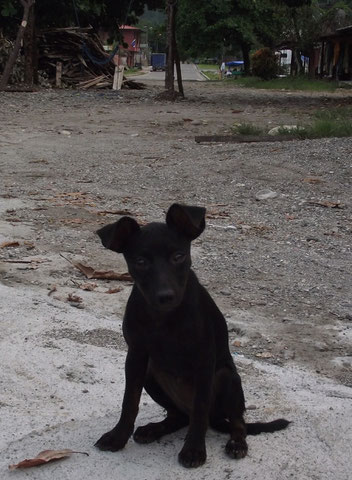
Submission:
{"label": "leafy green tree canopy in background, right of the central trunk", "polygon": [[253,46],[272,45],[280,32],[277,5],[270,0],[180,0],[178,38],[184,57],[242,50],[245,71]]}

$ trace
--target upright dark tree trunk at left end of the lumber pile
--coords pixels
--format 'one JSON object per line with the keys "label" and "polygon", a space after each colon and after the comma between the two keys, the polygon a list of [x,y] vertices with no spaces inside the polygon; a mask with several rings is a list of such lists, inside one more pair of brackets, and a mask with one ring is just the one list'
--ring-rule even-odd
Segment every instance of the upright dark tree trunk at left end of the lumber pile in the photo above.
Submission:
{"label": "upright dark tree trunk at left end of the lumber pile", "polygon": [[34,4],[29,10],[28,24],[23,37],[24,82],[27,85],[38,83],[38,51],[35,35]]}

